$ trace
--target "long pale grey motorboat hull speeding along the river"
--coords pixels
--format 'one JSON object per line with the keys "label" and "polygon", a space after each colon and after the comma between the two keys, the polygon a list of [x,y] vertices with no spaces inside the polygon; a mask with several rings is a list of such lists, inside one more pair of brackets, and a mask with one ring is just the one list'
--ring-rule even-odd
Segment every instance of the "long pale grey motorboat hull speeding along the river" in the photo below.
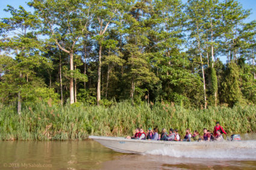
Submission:
{"label": "long pale grey motorboat hull speeding along the river", "polygon": [[242,144],[239,141],[223,141],[223,142],[176,142],[176,141],[149,141],[149,140],[139,140],[139,139],[125,139],[119,137],[105,137],[105,136],[89,136],[96,142],[104,145],[111,150],[120,153],[135,153],[143,154],[150,153],[156,150],[177,150],[177,151],[187,151],[187,150],[222,150],[222,149],[234,149],[234,148],[251,148],[247,144]]}

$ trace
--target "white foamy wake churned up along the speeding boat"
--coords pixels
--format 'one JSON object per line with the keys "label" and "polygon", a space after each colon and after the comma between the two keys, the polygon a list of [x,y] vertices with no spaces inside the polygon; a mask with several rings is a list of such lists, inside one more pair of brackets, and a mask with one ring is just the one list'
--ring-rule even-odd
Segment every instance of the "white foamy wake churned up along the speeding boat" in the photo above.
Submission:
{"label": "white foamy wake churned up along the speeding boat", "polygon": [[[256,160],[256,141],[214,142],[206,148],[205,142],[198,143],[196,146],[185,148],[168,147],[147,151],[146,154],[204,159]],[[204,149],[201,149],[200,146]]]}

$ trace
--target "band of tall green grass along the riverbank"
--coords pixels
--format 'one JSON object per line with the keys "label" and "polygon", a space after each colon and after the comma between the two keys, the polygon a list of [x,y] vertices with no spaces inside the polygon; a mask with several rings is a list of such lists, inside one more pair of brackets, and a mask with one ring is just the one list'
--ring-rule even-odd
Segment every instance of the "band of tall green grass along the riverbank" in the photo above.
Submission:
{"label": "band of tall green grass along the riverbank", "polygon": [[256,132],[256,106],[184,109],[179,106],[49,106],[37,103],[16,114],[14,106],[0,108],[0,140],[75,140],[89,135],[126,136],[136,127],[213,130],[216,121],[231,133]]}

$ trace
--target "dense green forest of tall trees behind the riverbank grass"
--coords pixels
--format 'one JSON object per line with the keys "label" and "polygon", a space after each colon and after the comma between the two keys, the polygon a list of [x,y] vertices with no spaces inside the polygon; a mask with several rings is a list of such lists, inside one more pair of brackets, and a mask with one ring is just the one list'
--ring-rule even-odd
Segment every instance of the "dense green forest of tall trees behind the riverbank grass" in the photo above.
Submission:
{"label": "dense green forest of tall trees behind the riverbank grass", "polygon": [[0,108],[256,104],[256,21],[236,0],[27,5],[1,18]]}

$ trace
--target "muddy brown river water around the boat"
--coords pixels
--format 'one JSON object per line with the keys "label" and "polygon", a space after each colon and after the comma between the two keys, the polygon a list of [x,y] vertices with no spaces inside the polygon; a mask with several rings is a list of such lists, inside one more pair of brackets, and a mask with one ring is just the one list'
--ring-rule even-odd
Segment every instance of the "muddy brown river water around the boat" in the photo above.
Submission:
{"label": "muddy brown river water around the boat", "polygon": [[[251,149],[221,153],[122,154],[95,141],[0,141],[1,169],[256,169],[256,134],[242,135]],[[243,144],[243,141],[241,141]]]}

